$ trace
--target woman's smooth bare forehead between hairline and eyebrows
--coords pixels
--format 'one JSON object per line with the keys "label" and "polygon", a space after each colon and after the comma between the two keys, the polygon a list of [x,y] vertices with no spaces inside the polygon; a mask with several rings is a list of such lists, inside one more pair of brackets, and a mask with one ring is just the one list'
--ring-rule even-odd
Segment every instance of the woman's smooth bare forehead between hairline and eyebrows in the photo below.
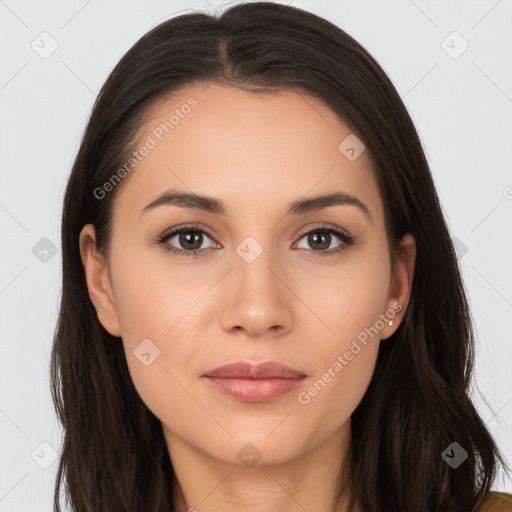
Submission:
{"label": "woman's smooth bare forehead between hairline and eyebrows", "polygon": [[218,197],[233,213],[279,214],[300,197],[342,191],[382,218],[370,156],[366,150],[357,156],[362,147],[354,137],[329,107],[303,92],[186,87],[145,116],[138,162],[115,210],[135,219],[157,196],[180,189]]}

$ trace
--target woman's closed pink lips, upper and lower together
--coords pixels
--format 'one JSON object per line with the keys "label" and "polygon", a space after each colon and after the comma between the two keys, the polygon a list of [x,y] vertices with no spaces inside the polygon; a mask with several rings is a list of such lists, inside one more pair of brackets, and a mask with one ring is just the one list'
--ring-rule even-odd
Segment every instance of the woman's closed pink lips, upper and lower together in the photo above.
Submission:
{"label": "woman's closed pink lips, upper and lower together", "polygon": [[244,361],[209,371],[203,377],[223,395],[242,402],[269,402],[297,388],[306,375],[274,362]]}

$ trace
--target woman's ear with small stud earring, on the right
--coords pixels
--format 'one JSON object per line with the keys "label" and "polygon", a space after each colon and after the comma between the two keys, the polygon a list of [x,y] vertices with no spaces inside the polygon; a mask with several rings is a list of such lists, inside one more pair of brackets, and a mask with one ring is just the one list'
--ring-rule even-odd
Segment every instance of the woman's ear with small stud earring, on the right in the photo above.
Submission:
{"label": "woman's ear with small stud earring, on the right", "polygon": [[[400,241],[398,258],[391,276],[389,285],[388,299],[386,301],[385,325],[381,331],[381,340],[389,338],[400,325],[411,297],[412,281],[414,277],[414,265],[416,262],[416,240],[407,233]],[[393,313],[394,317],[391,318]],[[393,325],[389,325],[389,320],[393,320]]]}

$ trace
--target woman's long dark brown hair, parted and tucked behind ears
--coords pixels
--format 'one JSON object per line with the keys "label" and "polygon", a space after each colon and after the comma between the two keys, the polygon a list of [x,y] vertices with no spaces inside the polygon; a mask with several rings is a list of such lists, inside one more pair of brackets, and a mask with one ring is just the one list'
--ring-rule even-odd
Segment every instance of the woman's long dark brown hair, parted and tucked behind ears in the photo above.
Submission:
{"label": "woman's long dark brown hair, parted and tucked behind ears", "polygon": [[[498,461],[506,465],[469,398],[472,319],[417,131],[388,76],[357,41],[318,16],[270,2],[161,23],[124,55],[95,102],[62,213],[63,288],[51,355],[52,397],[64,428],[55,510],[62,491],[77,512],[173,510],[174,472],[161,423],[133,385],[119,338],[98,321],[78,239],[92,223],[98,249],[108,250],[122,183],[101,199],[94,191],[134,150],[151,106],[193,83],[303,91],[365,144],[392,261],[407,232],[417,256],[403,322],[382,343],[351,418],[351,496],[368,512],[476,511]],[[457,469],[441,456],[452,442],[468,454]]]}

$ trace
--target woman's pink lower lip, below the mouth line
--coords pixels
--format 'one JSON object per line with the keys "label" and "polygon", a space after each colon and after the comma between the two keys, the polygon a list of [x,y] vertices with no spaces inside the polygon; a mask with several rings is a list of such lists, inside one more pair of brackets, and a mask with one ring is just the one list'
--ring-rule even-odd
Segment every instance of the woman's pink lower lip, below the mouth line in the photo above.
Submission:
{"label": "woman's pink lower lip, below the mouth line", "polygon": [[236,379],[206,377],[221,393],[243,402],[269,402],[297,388],[305,377],[272,379]]}

